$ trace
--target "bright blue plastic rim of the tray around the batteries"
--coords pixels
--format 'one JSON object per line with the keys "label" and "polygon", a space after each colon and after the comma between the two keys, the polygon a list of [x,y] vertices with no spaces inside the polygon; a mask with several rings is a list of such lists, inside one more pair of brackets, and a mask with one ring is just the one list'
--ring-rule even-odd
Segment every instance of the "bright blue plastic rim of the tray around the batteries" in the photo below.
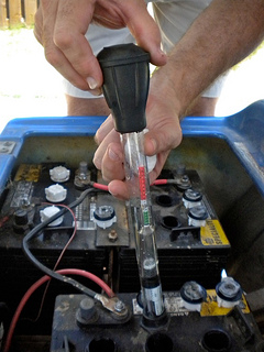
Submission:
{"label": "bright blue plastic rim of the tray around the batteries", "polygon": [[[24,118],[10,121],[0,135],[0,194],[28,136],[94,135],[105,117]],[[187,117],[184,136],[224,139],[264,196],[264,100],[223,118]]]}

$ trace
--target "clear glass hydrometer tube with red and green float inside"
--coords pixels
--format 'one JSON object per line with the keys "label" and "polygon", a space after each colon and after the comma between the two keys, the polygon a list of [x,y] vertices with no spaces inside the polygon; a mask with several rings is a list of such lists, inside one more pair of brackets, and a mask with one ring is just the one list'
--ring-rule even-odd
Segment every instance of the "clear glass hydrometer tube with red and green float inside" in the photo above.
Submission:
{"label": "clear glass hydrometer tube with red and green float inside", "polygon": [[130,210],[134,221],[143,316],[155,321],[156,318],[164,316],[165,307],[158,273],[155,226],[152,217],[148,175],[143,146],[144,132],[123,133],[121,142],[125,156],[124,167],[130,191]]}

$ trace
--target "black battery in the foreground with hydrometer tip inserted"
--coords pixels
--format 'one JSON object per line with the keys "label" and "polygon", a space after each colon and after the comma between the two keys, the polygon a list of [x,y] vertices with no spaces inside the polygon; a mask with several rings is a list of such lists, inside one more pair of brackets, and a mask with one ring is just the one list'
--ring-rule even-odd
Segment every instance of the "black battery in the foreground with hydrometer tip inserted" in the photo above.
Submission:
{"label": "black battery in the foreground with hydrometer tip inserted", "polygon": [[215,289],[207,290],[201,311],[183,306],[178,292],[164,293],[170,316],[166,329],[146,331],[142,324],[142,309],[134,294],[120,294],[132,316],[125,323],[111,319],[111,314],[95,305],[94,318],[86,324],[77,322],[84,295],[58,296],[54,309],[51,352],[70,345],[76,352],[92,351],[262,351],[263,339],[243,298],[233,309],[219,308]]}

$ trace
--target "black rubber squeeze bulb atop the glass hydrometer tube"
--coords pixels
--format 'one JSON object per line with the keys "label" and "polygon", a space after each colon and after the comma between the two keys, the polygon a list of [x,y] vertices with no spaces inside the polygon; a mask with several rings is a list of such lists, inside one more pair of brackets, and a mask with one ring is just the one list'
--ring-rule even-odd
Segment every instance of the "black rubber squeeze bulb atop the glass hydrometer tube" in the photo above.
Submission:
{"label": "black rubber squeeze bulb atop the glass hydrometer tube", "polygon": [[134,44],[105,47],[97,56],[103,74],[102,91],[111,109],[114,129],[140,132],[146,127],[150,54]]}

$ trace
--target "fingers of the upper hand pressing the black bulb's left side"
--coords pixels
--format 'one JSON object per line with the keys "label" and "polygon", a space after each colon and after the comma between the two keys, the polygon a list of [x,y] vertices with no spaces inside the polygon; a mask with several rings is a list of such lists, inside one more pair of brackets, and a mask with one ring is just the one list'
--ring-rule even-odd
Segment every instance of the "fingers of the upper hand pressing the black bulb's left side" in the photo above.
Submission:
{"label": "fingers of the upper hand pressing the black bulb's left side", "polygon": [[35,36],[47,62],[82,90],[101,94],[102,74],[85,34],[94,13],[94,0],[42,0]]}

